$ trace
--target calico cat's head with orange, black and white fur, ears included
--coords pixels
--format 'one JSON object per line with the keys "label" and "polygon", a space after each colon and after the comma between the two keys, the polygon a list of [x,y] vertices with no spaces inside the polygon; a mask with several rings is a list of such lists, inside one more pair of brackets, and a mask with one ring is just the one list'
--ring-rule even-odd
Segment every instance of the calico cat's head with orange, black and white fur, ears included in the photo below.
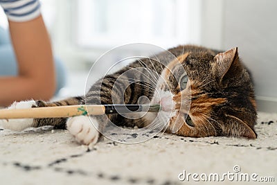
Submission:
{"label": "calico cat's head with orange, black and white fur, ears included", "polygon": [[168,64],[152,104],[161,105],[163,111],[159,114],[168,118],[168,132],[193,137],[256,138],[252,123],[256,121],[255,100],[249,97],[251,94],[251,79],[239,61],[237,49],[215,56],[203,51],[185,53]]}

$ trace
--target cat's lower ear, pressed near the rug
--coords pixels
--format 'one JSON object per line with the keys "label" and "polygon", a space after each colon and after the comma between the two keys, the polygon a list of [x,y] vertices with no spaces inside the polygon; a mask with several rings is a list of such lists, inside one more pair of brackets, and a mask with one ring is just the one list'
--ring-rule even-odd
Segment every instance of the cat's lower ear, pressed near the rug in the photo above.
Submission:
{"label": "cat's lower ear, pressed near the rug", "polygon": [[231,136],[243,136],[248,139],[256,139],[257,134],[254,130],[251,129],[247,123],[244,123],[240,118],[237,118],[235,116],[226,115],[229,122],[229,129],[228,133]]}

